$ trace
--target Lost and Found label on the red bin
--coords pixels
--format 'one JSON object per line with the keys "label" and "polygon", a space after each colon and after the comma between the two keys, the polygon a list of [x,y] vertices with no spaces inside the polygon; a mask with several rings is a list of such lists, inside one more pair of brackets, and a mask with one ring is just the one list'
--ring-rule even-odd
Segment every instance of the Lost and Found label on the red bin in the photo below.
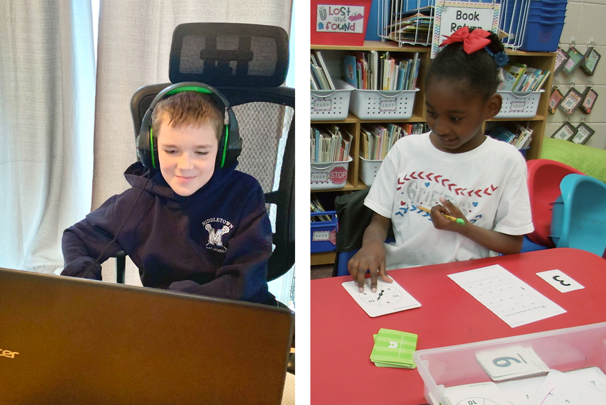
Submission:
{"label": "Lost and Found label on the red bin", "polygon": [[316,32],[364,32],[364,6],[318,4]]}

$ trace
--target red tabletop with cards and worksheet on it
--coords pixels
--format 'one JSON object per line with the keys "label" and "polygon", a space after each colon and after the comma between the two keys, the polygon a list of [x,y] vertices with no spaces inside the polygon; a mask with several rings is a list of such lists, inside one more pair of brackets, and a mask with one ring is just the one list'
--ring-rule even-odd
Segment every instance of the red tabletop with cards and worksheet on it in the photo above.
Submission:
{"label": "red tabletop with cards and worksheet on it", "polygon": [[[567,312],[511,328],[447,277],[491,264]],[[561,293],[536,275],[553,269],[585,288]],[[420,308],[370,318],[341,286],[350,276],[311,280],[311,404],[426,403],[416,370],[375,367],[370,361],[373,333],[382,327],[417,333],[417,349],[430,349],[606,321],[606,260],[584,250],[538,250],[388,274]]]}

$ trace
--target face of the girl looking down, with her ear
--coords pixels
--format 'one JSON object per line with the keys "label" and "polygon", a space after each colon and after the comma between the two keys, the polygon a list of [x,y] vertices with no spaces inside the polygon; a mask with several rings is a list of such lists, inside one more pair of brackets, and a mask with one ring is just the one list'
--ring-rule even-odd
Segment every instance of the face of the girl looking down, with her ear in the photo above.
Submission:
{"label": "face of the girl looking down, with her ear", "polygon": [[474,95],[464,81],[431,78],[425,89],[427,126],[433,146],[447,153],[462,153],[484,142],[482,123],[501,110],[501,96],[488,100]]}

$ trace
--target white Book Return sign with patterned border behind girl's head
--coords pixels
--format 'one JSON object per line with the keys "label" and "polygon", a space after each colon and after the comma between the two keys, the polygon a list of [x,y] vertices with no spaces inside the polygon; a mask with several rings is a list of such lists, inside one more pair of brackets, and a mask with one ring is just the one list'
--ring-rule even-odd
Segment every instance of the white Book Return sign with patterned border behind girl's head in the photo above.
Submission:
{"label": "white Book Return sign with patterned border behind girl's head", "polygon": [[496,33],[501,4],[468,1],[436,0],[431,58],[439,51],[439,44],[461,27],[482,28]]}

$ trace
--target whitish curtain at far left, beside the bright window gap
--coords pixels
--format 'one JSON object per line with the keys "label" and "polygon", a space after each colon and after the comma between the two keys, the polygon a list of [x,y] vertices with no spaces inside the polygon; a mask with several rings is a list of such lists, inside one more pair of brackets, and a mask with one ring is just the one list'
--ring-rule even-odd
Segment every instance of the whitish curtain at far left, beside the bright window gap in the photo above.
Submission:
{"label": "whitish curtain at far left, beside the bright window gap", "polygon": [[0,267],[62,269],[90,210],[95,56],[90,0],[0,1]]}

